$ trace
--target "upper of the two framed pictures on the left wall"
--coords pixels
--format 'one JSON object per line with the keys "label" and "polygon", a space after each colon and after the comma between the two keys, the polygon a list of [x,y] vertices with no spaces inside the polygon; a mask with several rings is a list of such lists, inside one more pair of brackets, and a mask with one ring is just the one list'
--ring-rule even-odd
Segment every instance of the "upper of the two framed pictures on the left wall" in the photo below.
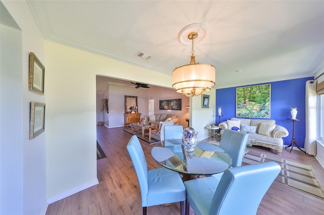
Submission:
{"label": "upper of the two framed pictures on the left wall", "polygon": [[45,67],[33,52],[29,53],[28,90],[44,95]]}

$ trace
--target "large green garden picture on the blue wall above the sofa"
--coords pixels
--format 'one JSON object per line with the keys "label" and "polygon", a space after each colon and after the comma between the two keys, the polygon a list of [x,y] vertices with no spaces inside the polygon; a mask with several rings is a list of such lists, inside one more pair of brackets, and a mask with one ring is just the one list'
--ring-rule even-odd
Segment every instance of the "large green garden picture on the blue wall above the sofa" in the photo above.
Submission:
{"label": "large green garden picture on the blue wall above the sofa", "polygon": [[236,117],[270,119],[271,84],[236,88]]}

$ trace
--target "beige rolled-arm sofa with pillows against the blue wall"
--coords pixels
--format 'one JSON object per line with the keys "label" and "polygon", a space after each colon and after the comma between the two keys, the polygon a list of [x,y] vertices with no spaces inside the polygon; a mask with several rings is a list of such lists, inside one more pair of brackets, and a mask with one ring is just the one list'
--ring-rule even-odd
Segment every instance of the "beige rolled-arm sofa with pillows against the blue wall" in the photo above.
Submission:
{"label": "beige rolled-arm sofa with pillows against the blue wall", "polygon": [[[236,122],[235,122],[236,121]],[[289,132],[285,127],[275,124],[274,120],[265,119],[239,119],[231,118],[218,125],[224,132],[224,129],[238,127],[241,132],[247,132],[253,145],[260,145],[275,150],[276,154],[281,154],[284,141],[282,137],[287,137]]]}

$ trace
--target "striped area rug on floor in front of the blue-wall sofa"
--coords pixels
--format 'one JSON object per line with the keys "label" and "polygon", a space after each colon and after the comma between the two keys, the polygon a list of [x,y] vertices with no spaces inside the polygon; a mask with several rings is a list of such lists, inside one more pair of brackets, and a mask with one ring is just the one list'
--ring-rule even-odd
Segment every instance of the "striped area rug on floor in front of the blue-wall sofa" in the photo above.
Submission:
{"label": "striped area rug on floor in front of the blue-wall sofa", "polygon": [[308,164],[259,153],[247,149],[242,165],[273,161],[280,165],[281,172],[275,182],[324,199],[324,189],[318,181],[313,168]]}

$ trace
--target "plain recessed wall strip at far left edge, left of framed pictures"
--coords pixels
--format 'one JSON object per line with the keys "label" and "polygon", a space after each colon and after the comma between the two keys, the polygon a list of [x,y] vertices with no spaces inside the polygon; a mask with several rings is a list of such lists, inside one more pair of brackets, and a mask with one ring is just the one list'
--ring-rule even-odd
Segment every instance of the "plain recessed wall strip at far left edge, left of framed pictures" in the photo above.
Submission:
{"label": "plain recessed wall strip at far left edge, left of framed pictures", "polygon": [[0,32],[0,214],[19,214],[23,211],[22,36],[20,30],[3,25]]}

